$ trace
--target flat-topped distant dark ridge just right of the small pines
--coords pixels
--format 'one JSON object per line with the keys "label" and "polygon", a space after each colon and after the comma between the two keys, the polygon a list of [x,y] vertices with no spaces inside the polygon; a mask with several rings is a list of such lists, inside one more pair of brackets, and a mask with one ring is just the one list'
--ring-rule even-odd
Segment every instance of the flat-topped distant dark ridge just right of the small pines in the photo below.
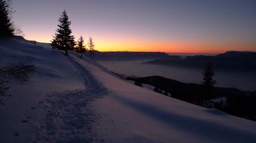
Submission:
{"label": "flat-topped distant dark ridge just right of the small pines", "polygon": [[168,56],[161,52],[96,52],[96,60],[140,60],[140,59],[158,59]]}

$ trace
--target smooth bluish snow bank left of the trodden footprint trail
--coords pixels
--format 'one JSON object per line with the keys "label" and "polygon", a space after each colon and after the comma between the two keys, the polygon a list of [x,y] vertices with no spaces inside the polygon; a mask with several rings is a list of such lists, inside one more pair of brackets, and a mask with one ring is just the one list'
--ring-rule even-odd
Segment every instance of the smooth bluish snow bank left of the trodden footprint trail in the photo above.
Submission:
{"label": "smooth bluish snow bank left of the trodden footprint trail", "polygon": [[54,93],[83,88],[83,79],[75,66],[58,51],[40,47],[23,38],[0,40],[0,66],[13,62],[36,66],[31,81],[19,83],[10,79],[8,94],[0,97],[0,142],[29,142],[36,122],[45,113],[45,97]]}

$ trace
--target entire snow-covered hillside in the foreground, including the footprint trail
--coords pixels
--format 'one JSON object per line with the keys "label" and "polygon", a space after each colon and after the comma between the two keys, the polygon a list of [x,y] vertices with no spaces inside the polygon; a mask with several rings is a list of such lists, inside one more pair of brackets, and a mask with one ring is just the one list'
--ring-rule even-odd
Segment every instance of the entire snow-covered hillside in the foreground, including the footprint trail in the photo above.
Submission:
{"label": "entire snow-covered hillside in the foreground, including the footprint trail", "polygon": [[36,71],[0,96],[0,143],[256,142],[253,121],[137,87],[73,52],[0,40],[0,66],[20,61]]}

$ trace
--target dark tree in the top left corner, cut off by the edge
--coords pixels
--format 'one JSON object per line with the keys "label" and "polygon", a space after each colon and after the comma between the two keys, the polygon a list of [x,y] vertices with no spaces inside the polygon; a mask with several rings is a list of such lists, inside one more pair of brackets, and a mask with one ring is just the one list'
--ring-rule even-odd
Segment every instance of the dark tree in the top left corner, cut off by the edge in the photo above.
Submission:
{"label": "dark tree in the top left corner, cut off by the edge", "polygon": [[0,37],[14,35],[14,28],[11,23],[11,10],[7,0],[0,0]]}

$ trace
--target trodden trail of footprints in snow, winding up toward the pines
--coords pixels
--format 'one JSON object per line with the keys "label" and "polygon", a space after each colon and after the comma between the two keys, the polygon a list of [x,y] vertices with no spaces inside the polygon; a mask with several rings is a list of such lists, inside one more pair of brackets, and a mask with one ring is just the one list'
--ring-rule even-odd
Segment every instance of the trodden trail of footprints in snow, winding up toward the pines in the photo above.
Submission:
{"label": "trodden trail of footprints in snow, winding up toward the pines", "polygon": [[83,65],[80,65],[76,57],[67,58],[83,78],[84,89],[47,96],[41,109],[45,116],[36,126],[36,133],[31,142],[103,141],[91,130],[95,117],[87,106],[96,98],[105,95],[107,90]]}

